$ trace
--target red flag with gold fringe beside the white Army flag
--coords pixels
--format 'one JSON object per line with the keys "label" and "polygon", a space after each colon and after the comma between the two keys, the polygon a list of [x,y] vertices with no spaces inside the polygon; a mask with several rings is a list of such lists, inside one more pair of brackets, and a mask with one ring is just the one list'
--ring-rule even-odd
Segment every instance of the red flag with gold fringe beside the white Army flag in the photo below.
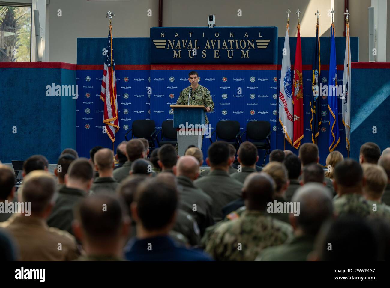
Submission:
{"label": "red flag with gold fringe beside the white Army flag", "polygon": [[294,148],[298,149],[303,138],[303,78],[302,78],[302,49],[301,26],[298,24],[294,64]]}

